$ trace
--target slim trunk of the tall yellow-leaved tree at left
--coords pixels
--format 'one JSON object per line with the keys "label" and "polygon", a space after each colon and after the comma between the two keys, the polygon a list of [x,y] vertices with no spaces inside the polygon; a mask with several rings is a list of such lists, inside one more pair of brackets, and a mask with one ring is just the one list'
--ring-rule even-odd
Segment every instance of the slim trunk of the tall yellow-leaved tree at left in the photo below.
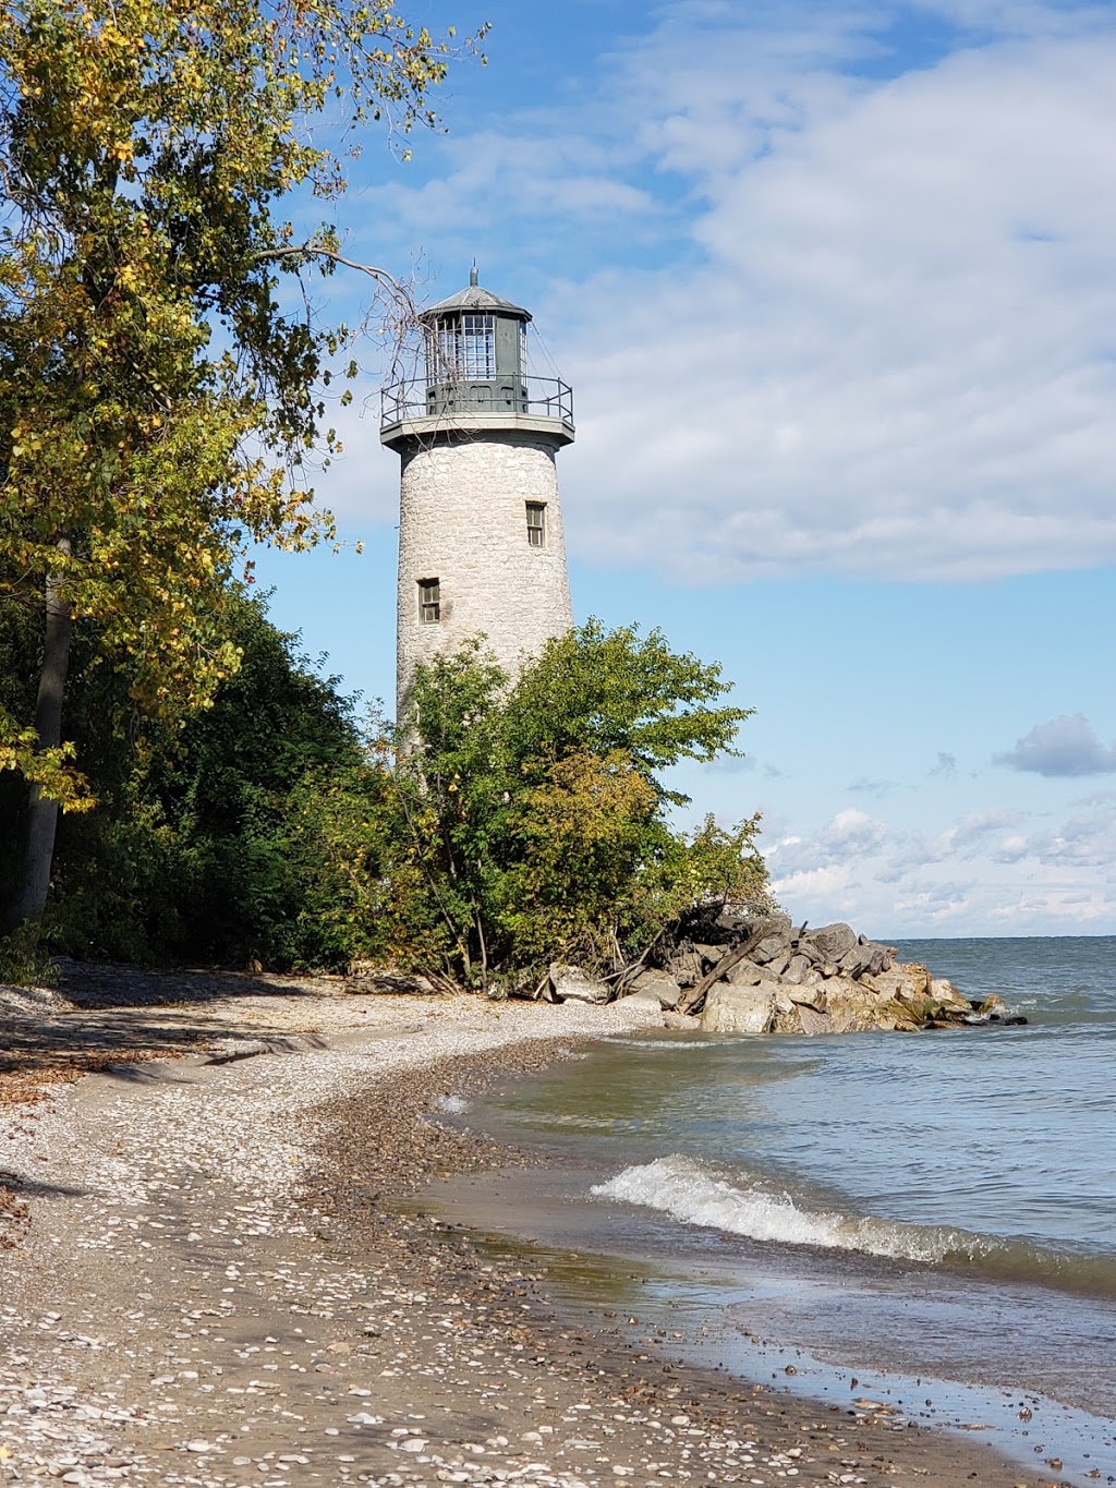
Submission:
{"label": "slim trunk of the tall yellow-leaved tree at left", "polygon": [[[68,557],[70,540],[62,537],[58,551]],[[73,618],[70,604],[62,597],[62,574],[46,577],[46,635],[43,638],[43,667],[39,673],[39,696],[34,707],[34,728],[39,748],[58,748],[62,741],[62,698],[65,674],[70,665],[70,634]],[[24,845],[24,868],[19,890],[12,900],[6,930],[16,930],[27,920],[40,920],[46,908],[46,893],[51,887],[51,863],[54,860],[54,835],[58,824],[58,802],[43,796],[39,786],[31,786],[27,811],[27,839]]]}

